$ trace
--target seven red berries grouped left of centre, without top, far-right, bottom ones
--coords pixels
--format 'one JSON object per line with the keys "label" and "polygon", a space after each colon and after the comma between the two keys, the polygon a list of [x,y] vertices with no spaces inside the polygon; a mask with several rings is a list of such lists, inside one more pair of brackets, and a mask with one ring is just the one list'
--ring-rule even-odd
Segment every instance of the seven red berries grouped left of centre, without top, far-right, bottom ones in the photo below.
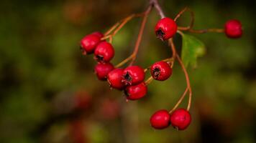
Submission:
{"label": "seven red berries grouped left of centre, without top, far-right, bottom ones", "polygon": [[[110,60],[114,57],[113,46],[101,41],[103,34],[94,32],[85,36],[81,40],[81,50],[83,54],[94,53],[94,59],[98,64],[94,71],[99,80],[108,81],[111,88],[124,90],[124,94],[129,100],[137,100],[147,94],[147,85],[144,82],[145,71],[140,66],[128,66],[125,69],[114,68]],[[166,61],[158,61],[150,68],[152,77],[159,81],[164,81],[172,74],[170,64]]]}

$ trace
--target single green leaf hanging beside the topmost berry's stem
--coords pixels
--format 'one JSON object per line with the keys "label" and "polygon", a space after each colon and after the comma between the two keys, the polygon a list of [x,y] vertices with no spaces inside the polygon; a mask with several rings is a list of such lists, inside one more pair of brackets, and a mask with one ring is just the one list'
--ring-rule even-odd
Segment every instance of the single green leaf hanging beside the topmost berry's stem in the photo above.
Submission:
{"label": "single green leaf hanging beside the topmost berry's stem", "polygon": [[204,43],[197,39],[195,36],[180,33],[182,36],[182,51],[181,59],[183,64],[187,67],[191,65],[196,68],[196,59],[204,56],[206,49]]}

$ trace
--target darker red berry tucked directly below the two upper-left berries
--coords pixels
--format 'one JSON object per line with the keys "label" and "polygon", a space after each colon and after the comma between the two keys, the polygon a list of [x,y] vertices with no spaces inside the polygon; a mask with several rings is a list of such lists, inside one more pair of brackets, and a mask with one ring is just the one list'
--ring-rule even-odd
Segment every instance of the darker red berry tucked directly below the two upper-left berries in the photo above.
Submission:
{"label": "darker red berry tucked directly below the two upper-left berries", "polygon": [[111,63],[98,63],[94,67],[94,71],[99,80],[106,80],[106,76],[111,70],[114,69],[114,66]]}

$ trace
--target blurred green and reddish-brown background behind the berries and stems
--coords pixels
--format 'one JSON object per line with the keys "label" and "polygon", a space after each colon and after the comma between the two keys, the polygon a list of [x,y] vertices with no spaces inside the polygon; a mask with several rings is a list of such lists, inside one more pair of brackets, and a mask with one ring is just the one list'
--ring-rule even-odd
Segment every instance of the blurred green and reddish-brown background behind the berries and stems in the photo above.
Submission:
{"label": "blurred green and reddish-brown background behind the berries and stems", "polygon": [[[0,142],[256,142],[255,3],[160,0],[170,17],[185,6],[193,9],[196,29],[221,28],[228,19],[239,19],[244,28],[235,40],[193,34],[207,52],[196,69],[188,68],[193,122],[176,131],[152,129],[149,119],[157,109],[171,109],[183,93],[178,64],[168,81],[149,85],[147,97],[125,102],[122,92],[96,79],[96,62],[78,47],[86,34],[144,11],[147,0],[1,0]],[[153,10],[136,62],[143,67],[171,55],[168,44],[155,38],[157,19]],[[132,52],[140,21],[132,20],[114,37],[114,64]],[[178,24],[188,21],[184,14]],[[175,43],[180,51],[180,36]]]}

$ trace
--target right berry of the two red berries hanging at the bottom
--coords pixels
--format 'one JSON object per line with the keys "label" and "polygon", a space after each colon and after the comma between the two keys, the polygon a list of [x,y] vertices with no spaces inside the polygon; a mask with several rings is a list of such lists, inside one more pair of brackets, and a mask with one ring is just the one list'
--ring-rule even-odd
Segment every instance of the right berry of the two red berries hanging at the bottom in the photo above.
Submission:
{"label": "right berry of the two red berries hanging at the bottom", "polygon": [[191,124],[191,114],[186,109],[176,109],[170,115],[170,124],[179,130],[186,129]]}

